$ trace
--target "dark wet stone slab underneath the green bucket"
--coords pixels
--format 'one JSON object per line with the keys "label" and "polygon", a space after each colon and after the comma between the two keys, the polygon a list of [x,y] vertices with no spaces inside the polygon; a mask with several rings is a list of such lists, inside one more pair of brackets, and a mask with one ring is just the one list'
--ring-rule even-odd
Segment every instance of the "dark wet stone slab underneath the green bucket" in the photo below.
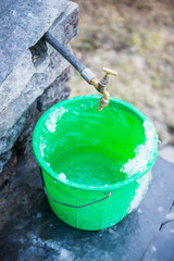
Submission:
{"label": "dark wet stone slab underneath the green bucket", "polygon": [[73,228],[52,212],[34,158],[23,158],[1,191],[0,260],[172,261],[174,164],[158,158],[138,209],[98,232]]}

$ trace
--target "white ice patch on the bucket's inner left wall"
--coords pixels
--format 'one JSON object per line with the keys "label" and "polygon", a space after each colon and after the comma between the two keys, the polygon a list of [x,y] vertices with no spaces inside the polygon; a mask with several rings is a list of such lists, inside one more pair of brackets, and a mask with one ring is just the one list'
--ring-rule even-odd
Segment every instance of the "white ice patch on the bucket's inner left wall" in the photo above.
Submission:
{"label": "white ice patch on the bucket's inner left wall", "polygon": [[60,107],[49,115],[49,119],[46,121],[46,127],[50,133],[55,132],[58,119],[61,119],[66,111],[66,109]]}

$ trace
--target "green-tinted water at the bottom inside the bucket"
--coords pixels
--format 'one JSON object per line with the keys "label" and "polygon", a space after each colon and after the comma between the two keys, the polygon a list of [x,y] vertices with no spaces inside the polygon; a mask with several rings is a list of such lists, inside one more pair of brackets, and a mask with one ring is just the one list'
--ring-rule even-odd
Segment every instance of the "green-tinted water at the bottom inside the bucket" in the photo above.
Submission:
{"label": "green-tinted water at the bottom inside the bucket", "polygon": [[124,161],[115,151],[96,146],[79,146],[64,151],[51,167],[64,182],[88,186],[115,184],[124,181],[121,172]]}

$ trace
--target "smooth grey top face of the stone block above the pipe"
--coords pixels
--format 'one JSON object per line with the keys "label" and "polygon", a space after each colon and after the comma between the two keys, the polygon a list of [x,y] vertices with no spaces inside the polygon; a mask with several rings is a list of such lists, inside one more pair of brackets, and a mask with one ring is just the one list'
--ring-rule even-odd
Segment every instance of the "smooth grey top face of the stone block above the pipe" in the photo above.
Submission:
{"label": "smooth grey top face of the stone block above the pipe", "polygon": [[0,83],[66,9],[67,0],[2,0],[0,9]]}

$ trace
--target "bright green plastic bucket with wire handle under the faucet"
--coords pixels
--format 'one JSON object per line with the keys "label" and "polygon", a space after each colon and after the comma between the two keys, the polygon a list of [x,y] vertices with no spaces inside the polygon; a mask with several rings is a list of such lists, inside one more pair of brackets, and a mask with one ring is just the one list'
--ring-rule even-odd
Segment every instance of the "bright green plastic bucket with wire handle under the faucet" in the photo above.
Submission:
{"label": "bright green plastic bucket with wire handle under the faucet", "polygon": [[36,124],[33,148],[53,212],[71,226],[97,231],[135,209],[158,154],[156,129],[140,111],[101,96],[66,99]]}

